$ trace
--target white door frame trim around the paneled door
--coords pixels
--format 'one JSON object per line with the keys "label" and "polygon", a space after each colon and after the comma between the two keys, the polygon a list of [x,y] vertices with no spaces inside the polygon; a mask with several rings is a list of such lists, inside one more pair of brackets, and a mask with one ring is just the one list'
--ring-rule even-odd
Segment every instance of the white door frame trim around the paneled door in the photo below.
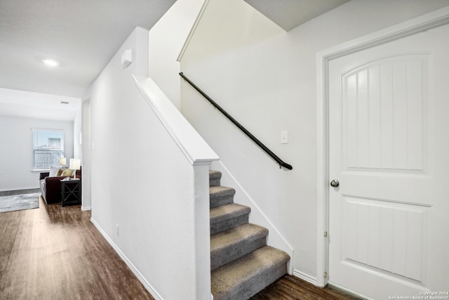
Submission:
{"label": "white door frame trim around the paneled door", "polygon": [[316,243],[316,285],[328,284],[329,268],[329,61],[349,53],[361,51],[388,41],[394,41],[411,34],[429,30],[449,23],[449,6],[401,22],[384,30],[368,34],[316,54],[316,111],[317,111],[317,243]]}

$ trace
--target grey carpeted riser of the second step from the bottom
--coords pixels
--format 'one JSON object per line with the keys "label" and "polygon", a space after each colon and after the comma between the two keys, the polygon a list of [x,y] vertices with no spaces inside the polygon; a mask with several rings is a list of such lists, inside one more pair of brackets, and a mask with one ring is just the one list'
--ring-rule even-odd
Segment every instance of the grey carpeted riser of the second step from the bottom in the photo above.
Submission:
{"label": "grey carpeted riser of the second step from the bottom", "polygon": [[239,259],[241,256],[253,252],[255,249],[259,249],[266,244],[267,237],[264,236],[257,240],[241,240],[224,249],[210,252],[210,270],[223,266],[229,263],[229,261],[234,261],[234,259]]}

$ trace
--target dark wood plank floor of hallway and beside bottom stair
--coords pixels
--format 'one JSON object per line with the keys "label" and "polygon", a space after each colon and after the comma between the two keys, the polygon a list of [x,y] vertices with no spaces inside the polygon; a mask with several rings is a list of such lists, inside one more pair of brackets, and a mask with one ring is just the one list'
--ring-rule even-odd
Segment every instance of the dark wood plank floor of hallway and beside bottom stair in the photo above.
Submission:
{"label": "dark wood plank floor of hallway and beside bottom stair", "polygon": [[[153,299],[80,206],[0,213],[0,299]],[[252,298],[356,299],[286,275]]]}

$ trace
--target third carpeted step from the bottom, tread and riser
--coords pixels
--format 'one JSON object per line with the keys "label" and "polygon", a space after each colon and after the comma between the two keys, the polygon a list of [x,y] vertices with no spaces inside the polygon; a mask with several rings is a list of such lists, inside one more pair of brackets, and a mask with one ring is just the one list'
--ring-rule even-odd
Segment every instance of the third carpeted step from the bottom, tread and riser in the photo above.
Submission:
{"label": "third carpeted step from the bottom, tread and riser", "polygon": [[249,207],[235,203],[213,207],[209,212],[210,234],[213,235],[243,223],[248,223],[250,211]]}

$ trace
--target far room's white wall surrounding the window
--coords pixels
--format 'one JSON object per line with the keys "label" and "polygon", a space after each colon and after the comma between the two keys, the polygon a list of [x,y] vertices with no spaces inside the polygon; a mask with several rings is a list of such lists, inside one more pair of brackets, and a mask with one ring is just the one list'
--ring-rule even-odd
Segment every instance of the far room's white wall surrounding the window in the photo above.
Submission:
{"label": "far room's white wall surrounding the window", "polygon": [[63,130],[65,157],[73,157],[73,122],[0,116],[0,190],[39,188],[39,172],[32,171],[33,128]]}

